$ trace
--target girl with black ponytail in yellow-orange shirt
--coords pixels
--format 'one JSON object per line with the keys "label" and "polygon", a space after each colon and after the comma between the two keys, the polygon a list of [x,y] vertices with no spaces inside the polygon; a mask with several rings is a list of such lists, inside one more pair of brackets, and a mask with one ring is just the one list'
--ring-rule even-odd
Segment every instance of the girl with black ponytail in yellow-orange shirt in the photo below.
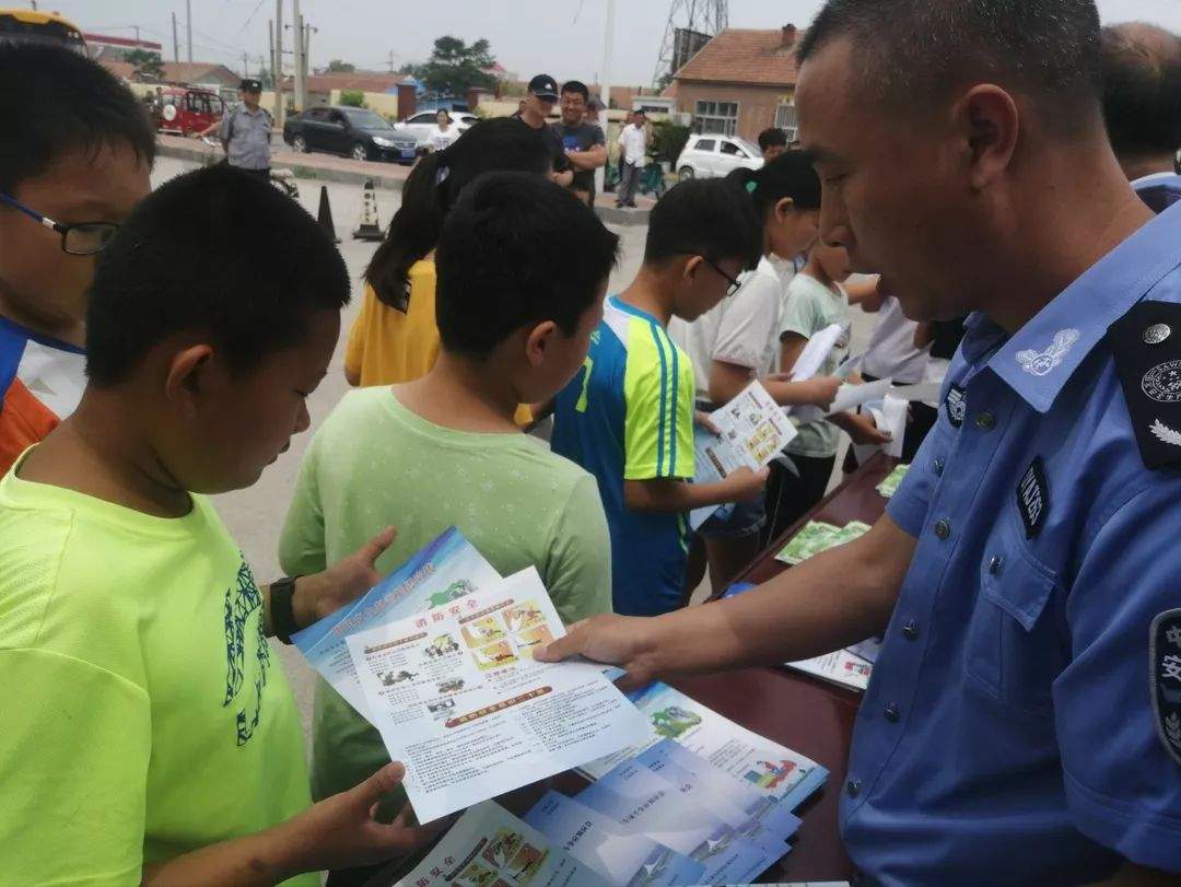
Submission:
{"label": "girl with black ponytail in yellow-orange shirt", "polygon": [[[345,378],[350,385],[413,381],[435,366],[435,244],[463,187],[484,172],[549,170],[541,137],[516,120],[483,120],[443,151],[428,155],[406,180],[402,207],[365,270],[361,309],[348,333]],[[537,249],[544,249],[539,243]],[[517,420],[529,420],[528,407]]]}

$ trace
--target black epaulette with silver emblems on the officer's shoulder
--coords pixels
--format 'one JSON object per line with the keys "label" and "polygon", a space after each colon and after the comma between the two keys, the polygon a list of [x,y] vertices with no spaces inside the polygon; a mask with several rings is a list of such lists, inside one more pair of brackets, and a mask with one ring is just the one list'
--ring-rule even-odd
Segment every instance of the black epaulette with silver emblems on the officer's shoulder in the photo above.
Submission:
{"label": "black epaulette with silver emblems on the officer's shoulder", "polygon": [[1144,465],[1181,462],[1181,305],[1142,301],[1108,340]]}

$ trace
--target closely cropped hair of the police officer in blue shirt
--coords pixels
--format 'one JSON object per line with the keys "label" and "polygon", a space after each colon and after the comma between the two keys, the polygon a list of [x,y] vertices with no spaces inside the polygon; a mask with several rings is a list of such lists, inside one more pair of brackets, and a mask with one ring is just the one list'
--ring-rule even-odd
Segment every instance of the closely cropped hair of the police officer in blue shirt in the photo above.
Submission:
{"label": "closely cropped hair of the police officer in blue shirt", "polygon": [[935,112],[952,91],[991,81],[1020,91],[1063,132],[1098,111],[1094,0],[828,0],[800,63],[840,38],[854,44],[867,94],[912,110]]}

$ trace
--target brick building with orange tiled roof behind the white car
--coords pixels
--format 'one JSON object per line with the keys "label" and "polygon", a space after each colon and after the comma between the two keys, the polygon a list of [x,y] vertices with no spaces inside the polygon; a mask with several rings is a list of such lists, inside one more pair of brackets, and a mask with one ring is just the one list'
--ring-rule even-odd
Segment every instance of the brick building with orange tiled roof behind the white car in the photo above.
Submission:
{"label": "brick building with orange tiled roof behind the white car", "polygon": [[768,126],[779,126],[794,139],[798,38],[795,25],[726,28],[673,76],[677,109],[692,115],[694,132],[753,142]]}

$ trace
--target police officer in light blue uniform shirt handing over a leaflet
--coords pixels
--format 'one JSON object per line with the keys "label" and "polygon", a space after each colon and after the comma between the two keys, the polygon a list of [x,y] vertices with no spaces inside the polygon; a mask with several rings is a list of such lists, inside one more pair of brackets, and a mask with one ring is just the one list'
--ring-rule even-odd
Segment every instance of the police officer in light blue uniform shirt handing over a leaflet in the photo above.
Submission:
{"label": "police officer in light blue uniform shirt handing over a leaflet", "polygon": [[828,0],[821,235],[909,317],[971,313],[939,420],[860,540],[537,654],[642,681],[882,634],[834,787],[864,883],[1181,873],[1181,208],[1116,163],[1098,40],[1090,0]]}

